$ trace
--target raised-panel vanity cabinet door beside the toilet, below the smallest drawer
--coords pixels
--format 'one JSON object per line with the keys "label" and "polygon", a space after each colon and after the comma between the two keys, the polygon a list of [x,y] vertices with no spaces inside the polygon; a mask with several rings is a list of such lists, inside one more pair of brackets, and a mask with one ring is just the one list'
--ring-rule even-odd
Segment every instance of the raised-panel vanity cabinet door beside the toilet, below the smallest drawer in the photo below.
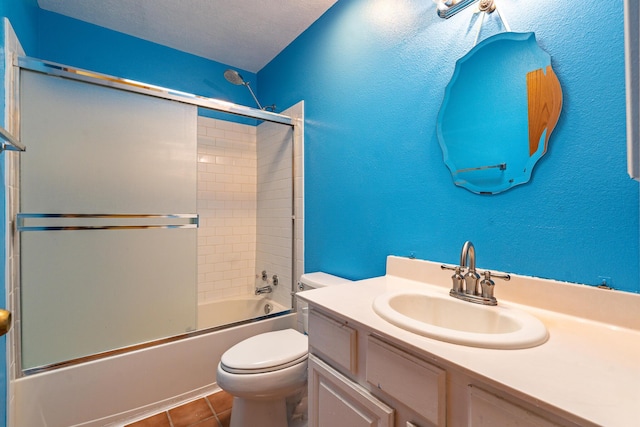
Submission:
{"label": "raised-panel vanity cabinet door beside the toilet, below the smallest drawer", "polygon": [[394,410],[309,355],[309,427],[392,427]]}

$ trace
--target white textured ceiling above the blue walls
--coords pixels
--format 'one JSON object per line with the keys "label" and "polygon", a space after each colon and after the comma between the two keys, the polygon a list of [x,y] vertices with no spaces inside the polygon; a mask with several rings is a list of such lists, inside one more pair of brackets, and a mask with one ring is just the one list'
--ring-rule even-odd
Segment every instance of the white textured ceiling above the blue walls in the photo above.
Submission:
{"label": "white textured ceiling above the blue walls", "polygon": [[337,0],[38,0],[42,9],[257,72]]}

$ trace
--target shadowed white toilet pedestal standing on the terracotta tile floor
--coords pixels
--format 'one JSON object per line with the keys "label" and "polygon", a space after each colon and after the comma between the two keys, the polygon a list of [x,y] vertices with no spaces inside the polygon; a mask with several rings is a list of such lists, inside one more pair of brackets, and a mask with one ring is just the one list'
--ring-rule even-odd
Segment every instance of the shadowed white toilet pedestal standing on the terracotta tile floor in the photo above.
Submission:
{"label": "shadowed white toilet pedestal standing on the terracotta tile floor", "polygon": [[230,427],[287,427],[287,403],[280,399],[233,398]]}

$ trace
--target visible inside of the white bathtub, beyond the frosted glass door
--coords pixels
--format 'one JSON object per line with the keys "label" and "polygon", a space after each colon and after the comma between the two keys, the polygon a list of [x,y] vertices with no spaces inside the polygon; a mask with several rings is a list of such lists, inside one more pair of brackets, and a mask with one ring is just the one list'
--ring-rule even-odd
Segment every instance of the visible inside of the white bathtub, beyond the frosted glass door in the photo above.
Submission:
{"label": "visible inside of the white bathtub, beyond the frosted glass door", "polygon": [[214,328],[287,311],[263,295],[246,295],[198,304],[198,329]]}

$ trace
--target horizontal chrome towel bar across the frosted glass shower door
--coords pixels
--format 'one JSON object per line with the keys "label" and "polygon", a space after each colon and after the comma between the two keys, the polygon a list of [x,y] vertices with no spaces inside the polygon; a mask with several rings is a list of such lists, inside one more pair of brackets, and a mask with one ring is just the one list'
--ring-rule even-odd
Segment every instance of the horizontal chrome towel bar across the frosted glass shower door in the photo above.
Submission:
{"label": "horizontal chrome towel bar across the frosted glass shower door", "polygon": [[[154,228],[198,228],[198,214],[49,214],[19,213],[18,231],[66,231],[66,230],[136,230]],[[45,220],[35,225],[26,225],[27,219]],[[96,223],[95,220],[112,220]],[[53,224],[46,224],[53,220]],[[139,223],[136,220],[144,220]],[[170,221],[167,221],[170,220]],[[175,221],[171,221],[175,220]],[[42,224],[44,222],[45,224]],[[85,222],[82,224],[82,222]],[[88,222],[88,223],[87,223]],[[93,223],[92,223],[93,222]]]}

